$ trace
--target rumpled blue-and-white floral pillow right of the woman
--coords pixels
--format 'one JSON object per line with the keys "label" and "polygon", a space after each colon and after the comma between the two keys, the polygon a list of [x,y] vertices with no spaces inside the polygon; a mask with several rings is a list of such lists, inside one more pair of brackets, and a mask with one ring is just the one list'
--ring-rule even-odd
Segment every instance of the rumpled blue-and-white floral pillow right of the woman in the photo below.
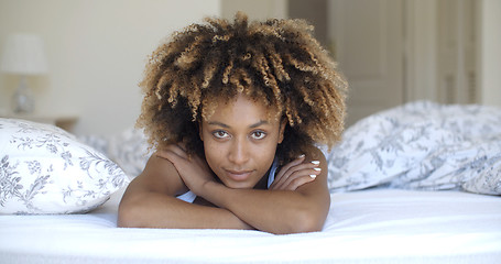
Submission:
{"label": "rumpled blue-and-white floral pillow right of the woman", "polygon": [[371,187],[501,195],[501,108],[416,101],[367,117],[327,153],[331,193]]}

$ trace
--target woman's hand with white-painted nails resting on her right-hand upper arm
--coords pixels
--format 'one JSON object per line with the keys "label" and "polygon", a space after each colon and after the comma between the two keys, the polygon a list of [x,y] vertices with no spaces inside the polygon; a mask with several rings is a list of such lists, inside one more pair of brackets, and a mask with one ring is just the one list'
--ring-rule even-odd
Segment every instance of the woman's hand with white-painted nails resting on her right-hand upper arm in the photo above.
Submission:
{"label": "woman's hand with white-painted nails resting on her right-hand upper arm", "polygon": [[299,186],[315,180],[316,176],[320,174],[319,162],[304,163],[304,161],[305,156],[301,155],[283,166],[270,189],[295,190]]}

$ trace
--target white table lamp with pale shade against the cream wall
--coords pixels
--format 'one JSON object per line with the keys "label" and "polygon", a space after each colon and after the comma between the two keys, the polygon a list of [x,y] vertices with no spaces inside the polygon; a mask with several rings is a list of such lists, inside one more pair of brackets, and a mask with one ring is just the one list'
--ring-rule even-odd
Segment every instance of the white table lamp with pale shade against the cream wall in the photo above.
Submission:
{"label": "white table lamp with pale shade against the cream wall", "polygon": [[42,38],[33,34],[10,35],[3,46],[0,70],[21,76],[12,98],[14,113],[32,113],[35,101],[26,77],[48,72]]}

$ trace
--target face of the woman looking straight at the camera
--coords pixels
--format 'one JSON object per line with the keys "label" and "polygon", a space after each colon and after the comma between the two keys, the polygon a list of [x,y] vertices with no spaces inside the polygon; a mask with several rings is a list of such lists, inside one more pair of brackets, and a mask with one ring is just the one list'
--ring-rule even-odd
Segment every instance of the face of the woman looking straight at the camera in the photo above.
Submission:
{"label": "face of the woman looking straight at the camera", "polygon": [[253,188],[268,172],[285,128],[274,117],[272,109],[239,95],[203,120],[207,163],[226,186]]}

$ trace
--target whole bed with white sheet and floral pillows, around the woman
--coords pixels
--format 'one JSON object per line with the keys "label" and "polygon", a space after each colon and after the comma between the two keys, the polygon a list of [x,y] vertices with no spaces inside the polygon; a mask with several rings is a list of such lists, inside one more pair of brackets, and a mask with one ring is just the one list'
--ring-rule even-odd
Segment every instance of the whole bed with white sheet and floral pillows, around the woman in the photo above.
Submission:
{"label": "whole bed with white sheet and floral pillows, around the woman", "polygon": [[[141,133],[77,139],[3,120],[6,134],[18,127],[14,150],[0,144],[0,263],[499,263],[500,123],[499,108],[429,101],[372,114],[325,150],[331,205],[323,231],[274,235],[117,228],[118,202],[148,156]],[[34,166],[33,154],[14,153],[39,145],[54,158]],[[57,165],[61,177],[47,177]],[[79,169],[68,176],[72,166]]]}

